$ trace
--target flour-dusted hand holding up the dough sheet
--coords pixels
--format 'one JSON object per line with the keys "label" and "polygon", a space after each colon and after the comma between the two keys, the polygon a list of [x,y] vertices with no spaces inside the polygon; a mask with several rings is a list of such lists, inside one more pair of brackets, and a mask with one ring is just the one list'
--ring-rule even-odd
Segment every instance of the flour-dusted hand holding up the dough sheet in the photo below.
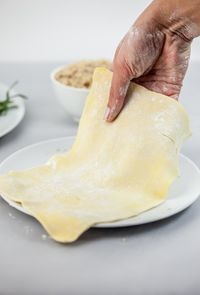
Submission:
{"label": "flour-dusted hand holding up the dough sheet", "polygon": [[200,0],[154,0],[120,42],[105,119],[124,105],[130,81],[178,99],[192,40],[200,35]]}

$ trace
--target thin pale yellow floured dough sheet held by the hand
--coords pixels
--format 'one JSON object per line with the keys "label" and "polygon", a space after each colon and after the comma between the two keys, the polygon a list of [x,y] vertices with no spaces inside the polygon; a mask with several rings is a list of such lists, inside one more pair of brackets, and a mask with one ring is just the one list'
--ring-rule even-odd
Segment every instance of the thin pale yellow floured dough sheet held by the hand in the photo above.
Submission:
{"label": "thin pale yellow floured dough sheet held by the hand", "polygon": [[69,152],[0,177],[0,193],[22,203],[59,242],[159,205],[178,175],[178,153],[190,135],[183,107],[133,84],[123,111],[107,123],[111,79],[109,70],[96,69]]}

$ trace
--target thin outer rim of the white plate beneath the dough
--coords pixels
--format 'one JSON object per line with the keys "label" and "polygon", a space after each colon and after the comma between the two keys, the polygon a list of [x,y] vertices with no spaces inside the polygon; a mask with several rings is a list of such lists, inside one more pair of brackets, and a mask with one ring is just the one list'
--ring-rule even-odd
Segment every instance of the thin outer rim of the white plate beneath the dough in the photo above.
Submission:
{"label": "thin outer rim of the white plate beneath the dough", "polygon": [[[37,146],[40,146],[40,145],[44,145],[44,144],[48,144],[50,142],[59,142],[59,141],[63,141],[63,140],[72,140],[72,144],[75,140],[76,136],[75,135],[69,135],[69,136],[64,136],[64,137],[58,137],[58,138],[52,138],[52,139],[47,139],[47,140],[43,140],[43,141],[39,141],[39,142],[36,142],[36,143],[33,143],[33,144],[30,144],[30,145],[27,145],[27,146],[24,146],[22,147],[21,149],[18,149],[17,151],[15,151],[14,153],[12,153],[11,155],[9,155],[8,157],[6,157],[1,163],[0,163],[0,170],[1,170],[1,167],[3,165],[5,165],[5,163],[7,161],[10,160],[10,158],[12,157],[15,157],[16,154],[18,153],[21,153],[23,152],[24,150],[27,150],[27,149],[30,149],[30,148],[34,148],[34,147],[37,147]],[[186,155],[180,153],[179,156],[181,158],[184,159],[184,161],[187,161],[192,167],[193,169],[196,171],[196,173],[199,175],[199,178],[200,178],[200,169],[199,167],[190,159],[188,158]],[[128,227],[128,226],[136,226],[136,225],[141,225],[141,224],[147,224],[147,223],[151,223],[151,222],[156,222],[156,221],[159,221],[159,220],[162,220],[162,219],[165,219],[165,218],[168,218],[170,216],[173,216],[183,210],[185,210],[186,208],[188,208],[189,206],[191,206],[200,196],[200,191],[199,193],[192,199],[192,202],[189,202],[189,204],[185,204],[183,207],[180,207],[179,208],[176,208],[176,210],[171,210],[168,212],[168,214],[164,214],[160,217],[157,217],[156,219],[154,220],[151,220],[151,221],[148,221],[148,220],[144,220],[144,221],[139,221],[139,222],[135,222],[134,224],[131,223],[131,219],[134,219],[134,218],[137,218],[138,216],[141,216],[142,214],[145,214],[146,212],[150,211],[150,210],[153,210],[155,208],[157,208],[158,206],[154,207],[154,208],[151,208],[139,215],[136,215],[136,216],[133,216],[133,217],[130,217],[130,218],[127,218],[127,219],[123,219],[123,220],[117,220],[117,221],[113,221],[113,222],[105,222],[105,223],[99,223],[99,224],[95,224],[93,227],[95,228],[119,228],[119,227]],[[9,204],[11,207],[15,208],[16,210],[18,211],[21,211],[22,213],[24,214],[27,214],[27,215],[31,215],[31,213],[28,213],[28,210],[25,210],[22,206],[21,208],[19,208],[17,203],[16,203],[16,206],[15,206],[15,202],[14,201],[10,201],[8,200],[7,198],[5,198],[4,196],[0,196],[7,204]],[[163,202],[162,204],[164,204],[165,202]],[[162,204],[160,204],[160,206],[162,206]],[[127,221],[130,221],[130,223],[126,223],[126,224],[123,224],[123,222],[127,222]]]}

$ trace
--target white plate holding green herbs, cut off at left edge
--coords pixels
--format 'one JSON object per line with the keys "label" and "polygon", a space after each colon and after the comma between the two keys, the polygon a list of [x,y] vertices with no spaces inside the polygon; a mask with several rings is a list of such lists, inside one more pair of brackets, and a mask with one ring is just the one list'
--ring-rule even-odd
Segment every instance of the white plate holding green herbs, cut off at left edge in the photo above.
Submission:
{"label": "white plate holding green herbs, cut off at left edge", "polygon": [[[8,86],[0,83],[0,101],[5,99],[5,93],[8,88]],[[15,94],[14,91],[11,91],[11,93]],[[21,97],[15,97],[13,98],[13,102],[17,105],[17,108],[8,111],[5,116],[0,116],[0,137],[13,130],[24,117],[25,105],[23,99]]]}

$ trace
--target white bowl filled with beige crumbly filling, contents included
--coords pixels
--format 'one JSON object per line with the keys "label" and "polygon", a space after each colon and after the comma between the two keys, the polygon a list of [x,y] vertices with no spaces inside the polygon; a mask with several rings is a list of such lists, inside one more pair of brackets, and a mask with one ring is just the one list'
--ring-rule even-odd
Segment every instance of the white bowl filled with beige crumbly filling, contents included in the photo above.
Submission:
{"label": "white bowl filled with beige crumbly filling, contents included", "polygon": [[85,60],[56,68],[51,73],[51,81],[56,97],[62,107],[79,121],[96,67],[110,68],[107,60]]}

